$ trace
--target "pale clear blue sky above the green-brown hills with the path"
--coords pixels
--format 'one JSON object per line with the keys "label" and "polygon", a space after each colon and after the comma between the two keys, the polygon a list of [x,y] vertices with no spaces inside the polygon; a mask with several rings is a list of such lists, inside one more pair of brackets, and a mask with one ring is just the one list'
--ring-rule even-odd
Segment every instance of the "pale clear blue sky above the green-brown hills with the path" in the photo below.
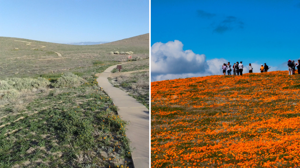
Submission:
{"label": "pale clear blue sky above the green-brown hills with the path", "polygon": [[112,42],[149,33],[149,0],[0,0],[0,36]]}

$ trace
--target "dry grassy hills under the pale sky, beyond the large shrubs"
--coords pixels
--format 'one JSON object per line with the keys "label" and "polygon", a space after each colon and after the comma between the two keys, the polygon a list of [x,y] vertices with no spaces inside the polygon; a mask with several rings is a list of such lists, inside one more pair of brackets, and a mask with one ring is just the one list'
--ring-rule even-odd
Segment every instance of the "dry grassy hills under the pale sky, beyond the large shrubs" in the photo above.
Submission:
{"label": "dry grassy hills under the pale sky, beyond the large shrubs", "polygon": [[[29,42],[30,45],[26,45]],[[127,56],[122,54],[110,55],[110,51],[132,51],[134,52],[133,58],[137,56],[147,58],[149,57],[149,33],[100,45],[67,45],[0,37],[0,46],[0,79],[32,77],[36,74],[62,73],[74,69],[81,71],[82,68],[88,68],[96,61],[125,61],[127,59]],[[41,46],[44,47],[41,48]],[[54,51],[71,58],[58,57]]]}

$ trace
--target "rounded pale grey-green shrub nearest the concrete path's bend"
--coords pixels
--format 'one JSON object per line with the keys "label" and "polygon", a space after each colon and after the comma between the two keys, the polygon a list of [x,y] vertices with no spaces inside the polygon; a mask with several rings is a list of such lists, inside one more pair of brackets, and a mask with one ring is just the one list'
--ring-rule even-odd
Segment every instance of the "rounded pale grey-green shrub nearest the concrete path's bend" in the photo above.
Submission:
{"label": "rounded pale grey-green shrub nearest the concrete path's bend", "polygon": [[63,88],[63,87],[71,87],[71,86],[77,86],[80,85],[80,83],[83,81],[81,77],[78,77],[77,75],[67,72],[63,74],[60,78],[57,79],[57,82],[53,84],[56,88]]}

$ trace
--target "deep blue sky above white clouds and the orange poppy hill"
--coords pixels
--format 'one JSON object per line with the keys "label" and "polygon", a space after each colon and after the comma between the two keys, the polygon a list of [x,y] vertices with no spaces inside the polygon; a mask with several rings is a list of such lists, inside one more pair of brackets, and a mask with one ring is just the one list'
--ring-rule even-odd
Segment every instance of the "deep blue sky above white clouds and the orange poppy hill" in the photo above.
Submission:
{"label": "deep blue sky above white clouds and the orange poppy hill", "polygon": [[266,62],[270,70],[286,70],[282,63],[300,58],[299,17],[300,0],[152,0],[151,45],[179,40],[183,51],[206,60]]}

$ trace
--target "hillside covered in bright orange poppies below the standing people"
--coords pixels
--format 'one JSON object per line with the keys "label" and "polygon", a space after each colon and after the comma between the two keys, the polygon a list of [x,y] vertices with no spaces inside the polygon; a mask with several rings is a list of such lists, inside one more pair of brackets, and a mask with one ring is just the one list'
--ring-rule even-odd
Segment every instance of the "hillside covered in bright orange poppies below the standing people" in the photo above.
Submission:
{"label": "hillside covered in bright orange poppies below the standing people", "polygon": [[300,75],[151,83],[151,167],[300,167]]}

